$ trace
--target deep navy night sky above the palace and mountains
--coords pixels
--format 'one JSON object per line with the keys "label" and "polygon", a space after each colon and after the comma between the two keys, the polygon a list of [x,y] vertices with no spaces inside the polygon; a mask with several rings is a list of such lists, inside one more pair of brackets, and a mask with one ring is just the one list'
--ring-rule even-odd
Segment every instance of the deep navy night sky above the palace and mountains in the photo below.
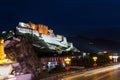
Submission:
{"label": "deep navy night sky above the palace and mountains", "polygon": [[120,40],[120,1],[0,0],[0,32],[19,21],[42,23],[65,36]]}

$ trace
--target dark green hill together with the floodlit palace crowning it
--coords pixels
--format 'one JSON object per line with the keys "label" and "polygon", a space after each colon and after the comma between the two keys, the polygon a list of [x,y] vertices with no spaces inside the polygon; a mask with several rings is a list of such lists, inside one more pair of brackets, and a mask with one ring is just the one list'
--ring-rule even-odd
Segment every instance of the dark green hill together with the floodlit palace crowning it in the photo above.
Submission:
{"label": "dark green hill together with the floodlit palace crowning it", "polygon": [[26,37],[39,53],[62,53],[77,50],[65,36],[55,35],[53,30],[48,29],[45,25],[20,22],[14,30],[2,32],[5,40],[18,35]]}

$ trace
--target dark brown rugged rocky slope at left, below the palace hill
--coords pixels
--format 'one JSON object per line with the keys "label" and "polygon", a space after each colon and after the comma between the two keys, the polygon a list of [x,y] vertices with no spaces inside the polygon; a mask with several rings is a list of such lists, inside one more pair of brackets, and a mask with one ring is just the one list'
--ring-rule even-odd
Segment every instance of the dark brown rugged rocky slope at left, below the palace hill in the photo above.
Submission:
{"label": "dark brown rugged rocky slope at left, below the palace hill", "polygon": [[30,41],[23,36],[12,37],[5,41],[5,53],[8,58],[20,63],[23,73],[40,72],[41,64]]}

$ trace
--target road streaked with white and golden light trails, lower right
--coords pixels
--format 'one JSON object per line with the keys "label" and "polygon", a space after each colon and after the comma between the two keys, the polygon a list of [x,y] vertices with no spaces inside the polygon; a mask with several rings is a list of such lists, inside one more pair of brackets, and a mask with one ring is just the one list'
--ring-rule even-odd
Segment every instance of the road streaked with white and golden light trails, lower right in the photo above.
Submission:
{"label": "road streaked with white and golden light trails, lower right", "polygon": [[60,80],[120,80],[120,64],[68,75]]}

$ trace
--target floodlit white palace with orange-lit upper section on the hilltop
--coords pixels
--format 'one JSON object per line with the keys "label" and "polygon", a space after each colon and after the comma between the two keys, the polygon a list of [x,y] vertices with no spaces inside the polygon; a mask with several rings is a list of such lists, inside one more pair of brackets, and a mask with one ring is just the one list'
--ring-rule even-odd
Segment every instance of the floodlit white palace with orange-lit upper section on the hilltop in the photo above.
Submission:
{"label": "floodlit white palace with orange-lit upper section on the hilltop", "polygon": [[[48,47],[52,50],[55,50],[57,46],[66,48],[65,51],[69,51],[73,48],[73,44],[68,43],[66,37],[62,35],[55,35],[53,30],[48,29],[48,26],[43,24],[19,22],[16,30],[18,33],[27,33],[37,36],[39,39],[42,39],[48,43]],[[53,46],[52,44],[57,46]]]}

